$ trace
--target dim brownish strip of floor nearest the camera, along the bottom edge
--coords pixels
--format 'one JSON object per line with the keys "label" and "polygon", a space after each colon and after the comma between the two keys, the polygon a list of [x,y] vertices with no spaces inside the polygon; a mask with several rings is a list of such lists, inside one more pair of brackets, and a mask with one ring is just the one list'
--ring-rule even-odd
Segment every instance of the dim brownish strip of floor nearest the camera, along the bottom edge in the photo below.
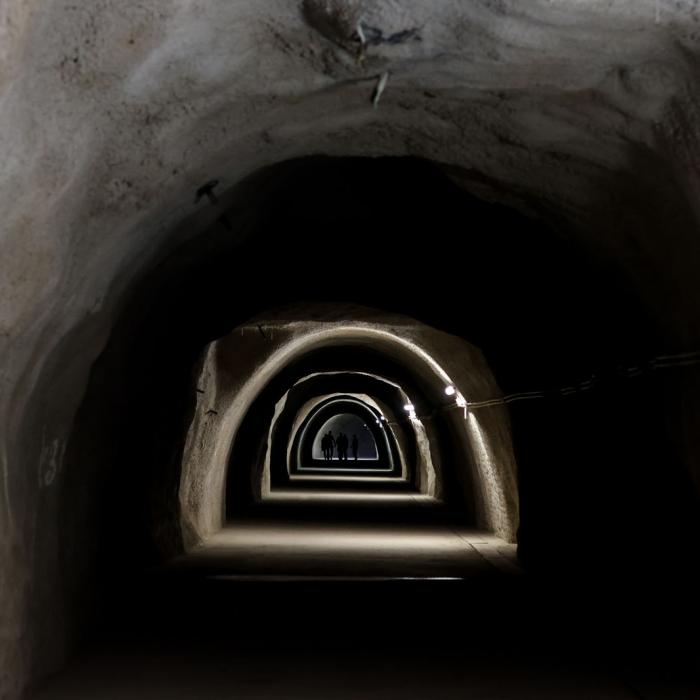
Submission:
{"label": "dim brownish strip of floor nearest the camera, along the bottom edge", "polygon": [[[368,633],[370,631],[368,630]],[[415,655],[414,655],[415,654]],[[542,659],[484,659],[440,652],[133,647],[94,652],[37,693],[38,700],[694,700],[658,683]]]}

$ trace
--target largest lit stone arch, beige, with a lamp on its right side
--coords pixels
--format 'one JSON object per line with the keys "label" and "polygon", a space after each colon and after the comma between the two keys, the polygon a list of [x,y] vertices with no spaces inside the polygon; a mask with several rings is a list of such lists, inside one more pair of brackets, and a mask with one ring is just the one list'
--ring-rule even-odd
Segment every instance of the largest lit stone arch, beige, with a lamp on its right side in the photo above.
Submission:
{"label": "largest lit stone arch, beige, with a lamp on its right side", "polygon": [[[342,356],[348,350],[352,351],[350,366],[356,366],[364,354],[365,359],[371,357],[372,367],[389,364],[394,373],[399,371],[419,388],[422,398],[416,401],[417,412],[430,416],[426,427],[431,440],[437,439],[444,448],[444,474],[458,482],[465,508],[471,511],[469,519],[512,540],[518,520],[517,486],[505,411],[484,412],[477,428],[464,420],[461,410],[450,410],[445,396],[446,385],[454,385],[470,400],[498,392],[479,351],[404,317],[358,307],[348,310],[352,321],[339,322],[333,317],[324,321],[324,313],[322,307],[314,314],[305,310],[304,317],[311,315],[314,321],[304,323],[295,320],[293,310],[271,314],[263,322],[274,330],[272,345],[259,332],[260,319],[255,319],[209,346],[180,488],[183,531],[192,542],[218,531],[224,522],[227,473],[235,482],[236,443],[247,439],[242,427],[251,412],[263,419],[260,424],[269,425],[275,402],[295,377],[317,370],[324,362],[338,369],[329,357],[334,351]],[[493,449],[484,449],[485,443]],[[261,450],[264,439],[249,444],[244,467],[261,465]]]}

